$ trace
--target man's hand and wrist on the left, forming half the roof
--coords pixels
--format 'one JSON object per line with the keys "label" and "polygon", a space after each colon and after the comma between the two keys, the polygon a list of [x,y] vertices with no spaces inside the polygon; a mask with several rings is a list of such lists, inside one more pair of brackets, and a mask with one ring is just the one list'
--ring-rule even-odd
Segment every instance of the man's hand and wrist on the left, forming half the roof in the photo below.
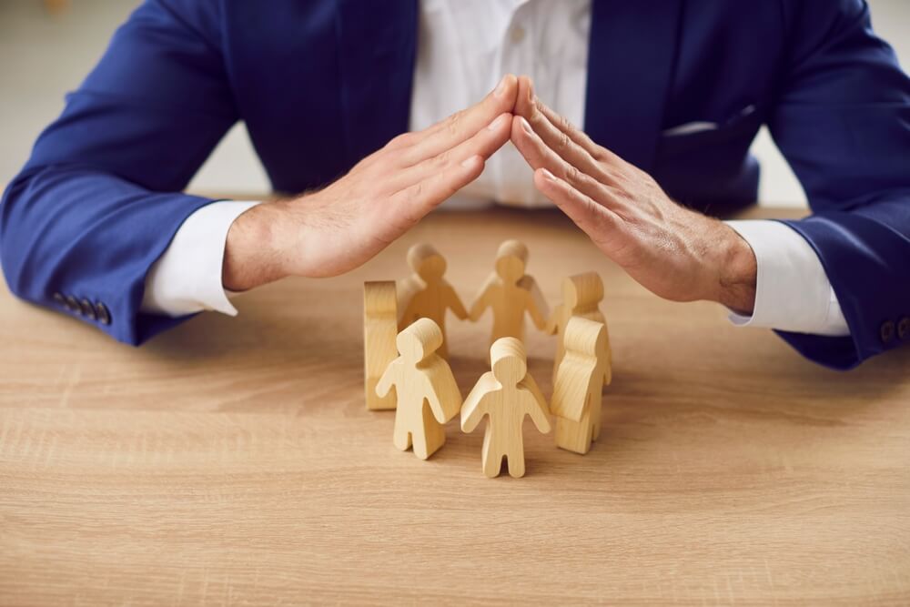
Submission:
{"label": "man's hand and wrist on the left, forming half the roof", "polygon": [[395,137],[329,187],[249,209],[227,233],[225,288],[357,268],[480,176],[509,140],[517,94],[505,76],[477,105]]}

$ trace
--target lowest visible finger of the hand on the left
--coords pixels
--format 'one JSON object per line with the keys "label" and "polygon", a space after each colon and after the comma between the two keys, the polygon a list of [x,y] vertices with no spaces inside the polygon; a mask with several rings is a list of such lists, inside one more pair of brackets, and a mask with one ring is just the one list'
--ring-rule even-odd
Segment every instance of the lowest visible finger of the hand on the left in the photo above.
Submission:
{"label": "lowest visible finger of the hand on the left", "polygon": [[416,224],[462,187],[480,177],[484,164],[483,157],[472,156],[446,167],[429,178],[393,194],[389,198],[391,203],[389,207],[393,213],[398,213],[406,224]]}

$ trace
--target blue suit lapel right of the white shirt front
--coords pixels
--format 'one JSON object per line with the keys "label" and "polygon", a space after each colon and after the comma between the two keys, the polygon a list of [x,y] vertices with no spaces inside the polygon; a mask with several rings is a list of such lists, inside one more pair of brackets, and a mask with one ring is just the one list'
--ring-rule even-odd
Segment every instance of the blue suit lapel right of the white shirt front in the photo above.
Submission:
{"label": "blue suit lapel right of the white shirt front", "polygon": [[592,0],[585,130],[642,170],[654,165],[683,0]]}

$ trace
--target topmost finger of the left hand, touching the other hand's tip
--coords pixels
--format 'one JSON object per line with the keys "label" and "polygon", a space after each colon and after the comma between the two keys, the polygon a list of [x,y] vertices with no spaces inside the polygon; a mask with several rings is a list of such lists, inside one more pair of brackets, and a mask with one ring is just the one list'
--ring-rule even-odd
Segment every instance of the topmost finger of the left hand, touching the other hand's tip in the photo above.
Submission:
{"label": "topmost finger of the left hand, touching the other hand's tip", "polygon": [[479,103],[421,131],[416,143],[402,150],[402,161],[406,165],[416,165],[444,150],[458,146],[488,126],[496,116],[506,112],[511,114],[516,95],[518,79],[511,74],[503,76],[500,84]]}

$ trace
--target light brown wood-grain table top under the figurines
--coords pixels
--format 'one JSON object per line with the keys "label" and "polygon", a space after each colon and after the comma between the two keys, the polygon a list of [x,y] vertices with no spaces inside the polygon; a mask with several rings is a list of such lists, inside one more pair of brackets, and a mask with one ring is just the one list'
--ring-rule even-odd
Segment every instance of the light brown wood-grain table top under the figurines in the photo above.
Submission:
{"label": "light brown wood-grain table top under the figurines", "polygon": [[[511,237],[551,303],[602,273],[614,381],[587,456],[529,423],[527,476],[490,480],[482,430],[420,461],[364,410],[361,283],[429,240],[469,299]],[[910,349],[822,369],[551,212],[431,216],[238,307],[132,349],[0,293],[0,603],[910,602]],[[464,394],[489,326],[450,323]]]}

